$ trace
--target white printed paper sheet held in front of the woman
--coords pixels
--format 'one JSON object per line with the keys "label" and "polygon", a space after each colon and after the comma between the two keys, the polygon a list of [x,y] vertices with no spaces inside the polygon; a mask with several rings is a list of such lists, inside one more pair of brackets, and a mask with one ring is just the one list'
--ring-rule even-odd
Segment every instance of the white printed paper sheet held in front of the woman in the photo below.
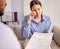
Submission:
{"label": "white printed paper sheet held in front of the woman", "polygon": [[53,33],[37,33],[31,37],[25,49],[49,49]]}

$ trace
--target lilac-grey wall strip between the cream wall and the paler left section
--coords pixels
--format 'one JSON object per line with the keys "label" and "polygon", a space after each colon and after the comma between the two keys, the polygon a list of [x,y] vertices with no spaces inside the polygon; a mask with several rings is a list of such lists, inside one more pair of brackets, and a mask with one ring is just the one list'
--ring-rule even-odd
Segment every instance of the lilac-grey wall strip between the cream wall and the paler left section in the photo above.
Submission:
{"label": "lilac-grey wall strip between the cream wall and the paler left section", "polygon": [[18,20],[22,21],[22,18],[24,16],[24,0],[12,0],[12,11],[13,12],[18,12]]}

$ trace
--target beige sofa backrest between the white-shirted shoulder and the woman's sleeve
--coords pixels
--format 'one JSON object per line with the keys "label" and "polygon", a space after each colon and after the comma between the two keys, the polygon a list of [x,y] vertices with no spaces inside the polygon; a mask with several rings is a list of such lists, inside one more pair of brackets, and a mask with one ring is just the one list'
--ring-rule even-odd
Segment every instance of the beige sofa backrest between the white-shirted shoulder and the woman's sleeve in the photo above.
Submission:
{"label": "beige sofa backrest between the white-shirted shoulder and the woman's sleeve", "polygon": [[9,27],[14,31],[14,33],[16,34],[18,40],[24,40],[22,35],[21,35],[20,25],[9,25]]}

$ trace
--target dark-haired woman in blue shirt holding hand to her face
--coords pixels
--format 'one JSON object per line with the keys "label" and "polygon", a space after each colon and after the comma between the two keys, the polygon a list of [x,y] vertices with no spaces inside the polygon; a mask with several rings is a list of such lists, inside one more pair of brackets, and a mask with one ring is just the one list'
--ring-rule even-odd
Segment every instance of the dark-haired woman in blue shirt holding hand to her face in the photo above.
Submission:
{"label": "dark-haired woman in blue shirt holding hand to her face", "polygon": [[22,36],[31,38],[34,32],[48,33],[51,25],[50,17],[42,13],[42,4],[38,0],[30,2],[31,12],[22,21]]}

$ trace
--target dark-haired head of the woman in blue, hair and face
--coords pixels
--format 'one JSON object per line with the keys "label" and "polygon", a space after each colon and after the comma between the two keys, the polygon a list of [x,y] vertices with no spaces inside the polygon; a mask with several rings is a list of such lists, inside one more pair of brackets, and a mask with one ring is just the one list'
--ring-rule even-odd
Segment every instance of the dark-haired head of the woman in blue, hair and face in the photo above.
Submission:
{"label": "dark-haired head of the woman in blue, hair and face", "polygon": [[36,12],[36,16],[41,15],[42,14],[42,4],[41,4],[41,2],[38,1],[38,0],[32,0],[30,2],[30,9],[31,9],[31,11]]}

